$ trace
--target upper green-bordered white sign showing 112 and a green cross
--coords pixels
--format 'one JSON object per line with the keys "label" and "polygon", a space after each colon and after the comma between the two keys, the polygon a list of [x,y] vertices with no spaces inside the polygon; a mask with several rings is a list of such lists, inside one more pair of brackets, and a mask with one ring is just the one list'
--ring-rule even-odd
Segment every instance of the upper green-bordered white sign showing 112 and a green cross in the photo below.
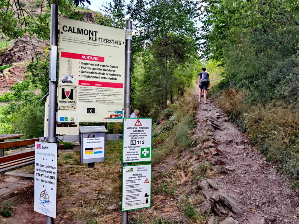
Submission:
{"label": "upper green-bordered white sign showing 112 and a green cross", "polygon": [[123,163],[152,161],[152,118],[123,119]]}

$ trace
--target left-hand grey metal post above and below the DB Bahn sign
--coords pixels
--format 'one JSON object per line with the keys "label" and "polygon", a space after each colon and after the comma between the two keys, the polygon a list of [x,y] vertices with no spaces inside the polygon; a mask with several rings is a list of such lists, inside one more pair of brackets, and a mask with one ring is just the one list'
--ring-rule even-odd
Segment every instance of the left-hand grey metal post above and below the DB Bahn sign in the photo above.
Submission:
{"label": "left-hand grey metal post above and below the DB Bahn sign", "polygon": [[[58,44],[58,5],[51,4],[50,23],[50,79],[49,79],[49,125],[47,142],[57,143],[56,136],[56,74]],[[56,152],[55,152],[56,153]],[[56,200],[56,198],[55,198]],[[53,224],[54,218],[46,216],[46,224]]]}

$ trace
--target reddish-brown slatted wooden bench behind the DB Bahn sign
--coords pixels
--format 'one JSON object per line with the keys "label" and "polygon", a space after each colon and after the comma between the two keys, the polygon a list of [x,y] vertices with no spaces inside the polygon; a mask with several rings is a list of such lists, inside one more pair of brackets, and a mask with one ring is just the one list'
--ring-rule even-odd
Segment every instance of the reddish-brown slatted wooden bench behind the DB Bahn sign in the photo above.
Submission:
{"label": "reddish-brown slatted wooden bench behind the DB Bahn sign", "polygon": [[[39,141],[39,138],[25,139],[20,141],[11,141],[11,142],[0,142],[0,149],[31,145],[37,141]],[[59,145],[58,149],[64,149],[64,145],[63,144]],[[34,149],[26,152],[20,152],[13,155],[0,157],[0,175],[4,176],[4,173],[8,171],[34,164],[34,157],[35,157]]]}

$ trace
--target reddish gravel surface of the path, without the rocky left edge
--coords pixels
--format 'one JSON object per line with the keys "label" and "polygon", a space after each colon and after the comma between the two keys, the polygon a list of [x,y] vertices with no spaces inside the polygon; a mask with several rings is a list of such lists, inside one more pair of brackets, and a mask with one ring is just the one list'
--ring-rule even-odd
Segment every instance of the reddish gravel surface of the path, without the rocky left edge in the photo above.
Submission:
{"label": "reddish gravel surface of the path, without the rocky left edge", "polygon": [[198,139],[207,133],[207,122],[220,126],[210,128],[213,131],[209,133],[208,144],[212,145],[205,143],[204,146],[208,150],[220,150],[210,158],[210,163],[216,166],[213,168],[221,169],[220,174],[211,179],[214,183],[211,197],[225,194],[234,199],[242,209],[242,215],[234,217],[239,223],[299,223],[298,194],[290,188],[290,182],[277,171],[276,165],[266,162],[265,156],[254,149],[245,134],[228,122],[212,99],[198,105],[194,134]]}

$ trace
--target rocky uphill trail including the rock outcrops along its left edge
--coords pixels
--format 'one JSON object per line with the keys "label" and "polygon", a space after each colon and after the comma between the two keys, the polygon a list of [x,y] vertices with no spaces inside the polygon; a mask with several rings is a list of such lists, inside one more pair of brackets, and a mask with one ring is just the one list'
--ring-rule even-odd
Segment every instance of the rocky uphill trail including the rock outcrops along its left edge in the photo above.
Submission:
{"label": "rocky uphill trail including the rock outcrops along its left edge", "polygon": [[200,162],[210,163],[216,175],[200,178],[197,186],[190,181],[184,186],[190,200],[202,194],[196,206],[210,214],[208,224],[299,223],[298,194],[290,188],[290,180],[279,173],[277,165],[266,161],[246,134],[228,122],[213,99],[207,102],[198,102],[193,133],[195,139],[207,141],[182,153],[180,159],[166,159],[168,163],[155,169],[166,172],[180,161],[189,161],[195,171]]}

